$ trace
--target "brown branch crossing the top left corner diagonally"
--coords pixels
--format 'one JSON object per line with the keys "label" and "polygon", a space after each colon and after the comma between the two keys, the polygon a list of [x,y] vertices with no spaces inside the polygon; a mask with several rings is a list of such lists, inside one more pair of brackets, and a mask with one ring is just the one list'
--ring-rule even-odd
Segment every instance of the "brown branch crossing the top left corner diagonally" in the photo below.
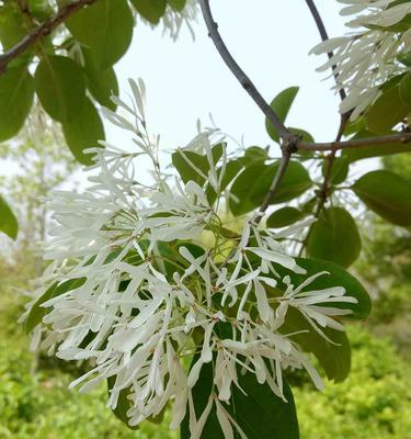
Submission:
{"label": "brown branch crossing the top left corner diagonally", "polygon": [[4,74],[11,60],[34,46],[41,38],[49,35],[58,25],[65,22],[70,15],[85,7],[92,4],[96,0],[77,0],[61,8],[57,14],[46,20],[38,27],[34,29],[30,34],[25,35],[15,46],[0,55],[0,75]]}

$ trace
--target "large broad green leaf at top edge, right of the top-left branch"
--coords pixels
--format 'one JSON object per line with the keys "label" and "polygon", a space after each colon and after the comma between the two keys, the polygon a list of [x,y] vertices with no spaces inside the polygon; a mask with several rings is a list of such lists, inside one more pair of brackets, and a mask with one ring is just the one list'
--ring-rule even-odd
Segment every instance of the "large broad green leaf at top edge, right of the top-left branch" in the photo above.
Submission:
{"label": "large broad green leaf at top edge, right of the top-left branch", "polygon": [[134,19],[126,0],[99,0],[71,15],[66,25],[72,36],[90,49],[96,67],[104,69],[127,52]]}

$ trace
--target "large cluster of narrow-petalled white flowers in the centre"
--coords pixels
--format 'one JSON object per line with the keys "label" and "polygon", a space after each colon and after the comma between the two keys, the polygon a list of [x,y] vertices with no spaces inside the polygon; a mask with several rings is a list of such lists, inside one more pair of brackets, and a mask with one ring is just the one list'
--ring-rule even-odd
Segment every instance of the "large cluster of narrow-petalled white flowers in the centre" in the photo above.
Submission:
{"label": "large cluster of narrow-petalled white flowers in the centre", "polygon": [[[216,133],[202,133],[180,149],[198,175],[204,170],[189,151],[203,154],[208,162],[204,183],[164,175],[158,137],[147,132],[144,83],[130,85],[135,106],[115,101],[133,123],[109,110],[106,116],[134,133],[137,151],[95,148],[90,188],[81,194],[54,193],[55,226],[46,252],[53,262],[25,318],[36,307],[45,309],[33,329],[34,344],[60,359],[87,360],[90,370],[71,386],[81,384],[88,392],[109,380],[107,405],[115,408],[126,394],[132,426],[157,417],[172,402],[171,428],[187,416],[191,436],[199,438],[215,405],[225,437],[233,429],[244,437],[227,409],[232,387],[240,386],[239,373],[255,375],[284,399],[285,368],[307,370],[322,387],[309,357],[293,334],[282,330],[289,308],[326,337],[323,328],[343,330],[334,317],[350,313],[335,304],[356,300],[341,286],[309,291],[326,272],[293,285],[290,275],[305,270],[287,255],[283,239],[305,224],[274,234],[254,214],[243,218],[239,233],[226,227],[220,207],[229,196],[221,189],[227,150],[219,143],[216,158]],[[152,162],[150,183],[137,177],[135,158],[141,155]],[[213,245],[204,244],[204,234],[213,235]],[[279,268],[289,275],[281,275]],[[53,285],[66,288],[48,294],[50,285],[52,292]],[[203,365],[212,362],[213,389],[198,417],[193,389]]]}

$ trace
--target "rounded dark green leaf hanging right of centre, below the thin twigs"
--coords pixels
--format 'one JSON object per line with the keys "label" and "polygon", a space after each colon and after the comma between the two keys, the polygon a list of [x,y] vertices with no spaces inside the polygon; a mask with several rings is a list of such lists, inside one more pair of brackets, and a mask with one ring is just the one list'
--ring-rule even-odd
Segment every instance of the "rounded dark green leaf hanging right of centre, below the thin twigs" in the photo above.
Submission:
{"label": "rounded dark green leaf hanging right of centre, below the thin twigs", "polygon": [[359,252],[361,238],[351,214],[342,207],[322,211],[309,232],[307,254],[349,267],[358,258]]}

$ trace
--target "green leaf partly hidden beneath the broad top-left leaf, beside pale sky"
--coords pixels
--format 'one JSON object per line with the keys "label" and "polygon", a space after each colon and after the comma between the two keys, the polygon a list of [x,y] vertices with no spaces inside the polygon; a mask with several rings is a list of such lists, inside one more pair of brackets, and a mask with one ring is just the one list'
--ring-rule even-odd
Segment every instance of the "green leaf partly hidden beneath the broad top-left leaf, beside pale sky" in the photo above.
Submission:
{"label": "green leaf partly hidden beneath the broad top-left leaf, beside pale sky", "polygon": [[115,111],[117,105],[111,100],[112,94],[118,95],[118,82],[113,67],[99,69],[90,50],[83,47],[84,72],[87,87],[92,97],[110,110]]}

